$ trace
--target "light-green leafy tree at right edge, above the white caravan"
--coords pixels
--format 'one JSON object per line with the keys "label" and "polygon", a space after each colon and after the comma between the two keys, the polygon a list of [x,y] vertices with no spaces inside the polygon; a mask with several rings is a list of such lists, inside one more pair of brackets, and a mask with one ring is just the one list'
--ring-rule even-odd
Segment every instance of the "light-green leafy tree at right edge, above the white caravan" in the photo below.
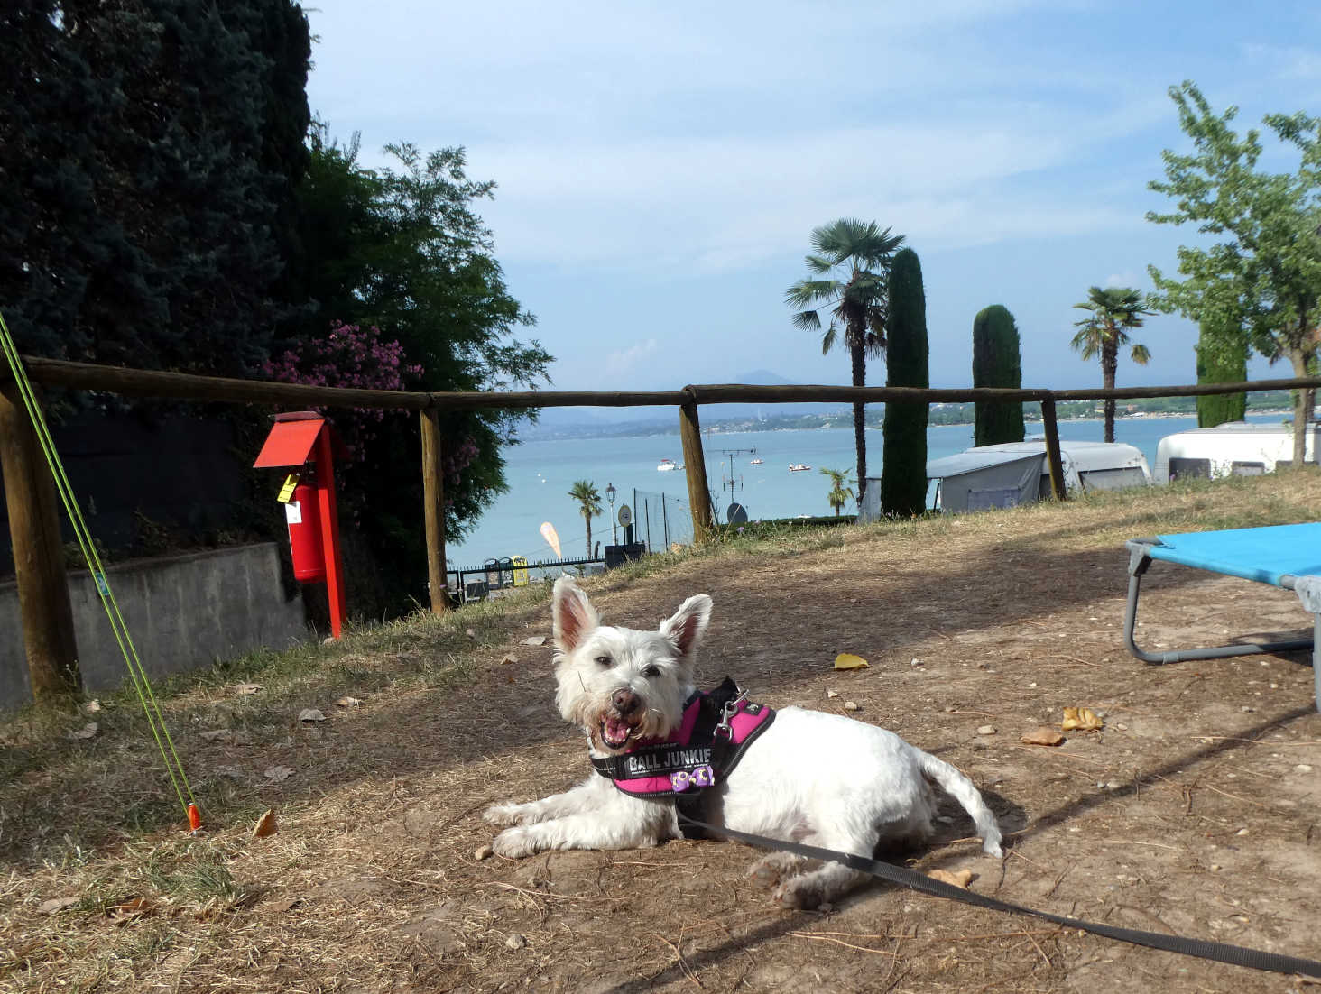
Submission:
{"label": "light-green leafy tree at right edge, above the white caravan", "polygon": [[[1287,359],[1306,376],[1317,356],[1321,315],[1321,119],[1267,115],[1264,123],[1300,153],[1296,173],[1258,168],[1260,132],[1239,136],[1236,107],[1211,111],[1196,83],[1170,87],[1180,127],[1193,152],[1166,149],[1165,180],[1152,190],[1176,207],[1151,211],[1157,224],[1196,223],[1217,236],[1207,248],[1178,249],[1182,280],[1148,267],[1157,305],[1203,322],[1218,335],[1246,338],[1271,362]],[[1299,391],[1293,409],[1293,462],[1303,463],[1312,391]]]}

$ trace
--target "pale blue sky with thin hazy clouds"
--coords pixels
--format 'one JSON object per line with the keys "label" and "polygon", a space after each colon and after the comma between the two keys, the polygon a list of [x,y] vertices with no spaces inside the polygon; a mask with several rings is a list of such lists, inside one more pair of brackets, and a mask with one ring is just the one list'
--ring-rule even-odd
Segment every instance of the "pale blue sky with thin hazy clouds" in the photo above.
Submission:
{"label": "pale blue sky with thin hazy clouds", "polygon": [[[971,385],[972,319],[1017,321],[1022,385],[1100,385],[1069,341],[1092,285],[1151,290],[1184,226],[1148,190],[1188,150],[1185,79],[1240,131],[1321,114],[1316,0],[436,4],[318,0],[308,96],[359,161],[461,145],[551,389],[679,389],[769,371],[845,384],[785,289],[812,228],[875,220],[917,251],[933,387]],[[1297,166],[1267,133],[1263,165]],[[1157,315],[1119,385],[1196,381]],[[1288,376],[1256,359],[1254,379]],[[868,367],[882,385],[884,366]]]}

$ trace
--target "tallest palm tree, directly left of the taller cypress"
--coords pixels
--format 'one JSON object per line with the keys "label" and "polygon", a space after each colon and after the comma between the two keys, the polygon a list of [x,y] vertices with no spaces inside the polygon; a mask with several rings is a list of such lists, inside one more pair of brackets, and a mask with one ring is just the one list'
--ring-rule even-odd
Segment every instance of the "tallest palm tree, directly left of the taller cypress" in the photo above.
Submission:
{"label": "tallest palm tree, directly left of the taller cypress", "polygon": [[[785,290],[785,302],[798,308],[794,325],[804,331],[820,331],[816,313],[830,308],[830,325],[822,334],[822,354],[840,341],[848,350],[853,385],[867,385],[867,356],[885,350],[885,285],[890,256],[904,235],[884,231],[875,220],[840,218],[811,235],[814,255],[807,256],[812,276]],[[815,306],[814,306],[815,305]],[[853,401],[853,440],[857,445],[857,500],[867,490],[867,424],[863,401]]]}

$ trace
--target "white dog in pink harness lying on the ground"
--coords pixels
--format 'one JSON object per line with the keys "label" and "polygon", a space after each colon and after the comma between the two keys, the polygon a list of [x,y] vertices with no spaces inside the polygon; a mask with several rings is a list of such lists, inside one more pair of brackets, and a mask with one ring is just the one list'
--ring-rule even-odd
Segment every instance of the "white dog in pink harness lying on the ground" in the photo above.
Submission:
{"label": "white dog in pink harness lying on the ground", "polygon": [[[700,741],[690,742],[686,734],[701,710],[694,663],[711,618],[705,594],[684,601],[657,631],[635,631],[601,624],[587,594],[563,577],[553,616],[555,701],[565,721],[587,731],[597,770],[565,793],[487,809],[487,821],[514,825],[495,837],[501,855],[654,846],[683,836],[676,801],[696,796],[700,817],[712,825],[869,857],[882,840],[930,837],[929,780],[972,816],[983,850],[1001,855],[1000,829],[972,783],[873,725],[799,708],[775,713],[727,694],[723,706],[708,708],[719,715],[713,737],[732,743],[742,723],[744,733],[752,729],[746,741],[717,742],[715,758]],[[727,754],[733,759],[721,768]],[[775,898],[793,908],[832,902],[865,879],[841,863],[782,853],[758,861],[753,875],[778,884]]]}

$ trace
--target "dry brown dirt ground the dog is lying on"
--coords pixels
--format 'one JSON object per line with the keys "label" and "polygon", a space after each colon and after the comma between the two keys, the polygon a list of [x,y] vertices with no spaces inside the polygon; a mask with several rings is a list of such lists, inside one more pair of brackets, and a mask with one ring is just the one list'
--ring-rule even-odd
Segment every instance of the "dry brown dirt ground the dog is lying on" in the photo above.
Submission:
{"label": "dry brown dirt ground the dog is lying on", "polygon": [[[1295,496],[1314,507],[1318,491],[1313,480]],[[1243,492],[1251,503],[1255,491],[1231,498]],[[966,771],[1009,844],[1003,863],[984,857],[947,800],[935,842],[896,859],[966,867],[974,891],[1055,913],[1321,958],[1309,655],[1149,667],[1122,644],[1123,540],[1214,527],[1218,494],[836,529],[585,586],[605,620],[634,627],[709,593],[699,669],[711,685],[732,676],[777,708],[843,713],[855,702],[853,717]],[[1300,520],[1288,500],[1258,506]],[[1292,593],[1162,564],[1141,607],[1149,648],[1309,634]],[[550,635],[544,594],[506,611],[503,627],[466,636],[477,659],[468,680],[383,684],[380,673],[429,651],[416,643],[350,653],[337,686],[291,697],[293,714],[318,708],[325,722],[287,717],[267,734],[242,713],[260,694],[217,690],[181,735],[189,770],[273,807],[280,832],[251,838],[250,821],[226,824],[222,811],[209,837],[123,845],[137,847],[137,863],[153,846],[170,859],[205,846],[247,896],[214,913],[165,896],[116,913],[148,884],[114,846],[75,870],[16,866],[0,903],[0,986],[1247,994],[1316,983],[881,883],[824,913],[789,912],[746,879],[758,853],[729,842],[478,859],[493,837],[480,818],[487,804],[561,791],[588,772],[581,734],[552,706],[550,647],[522,644]],[[869,665],[835,671],[839,652]],[[361,705],[336,706],[355,690]],[[1066,706],[1094,709],[1104,729],[1055,747],[1020,741],[1058,729]],[[217,721],[251,735],[201,739]],[[263,776],[275,764],[295,772]],[[40,913],[89,887],[100,888],[94,908]]]}

